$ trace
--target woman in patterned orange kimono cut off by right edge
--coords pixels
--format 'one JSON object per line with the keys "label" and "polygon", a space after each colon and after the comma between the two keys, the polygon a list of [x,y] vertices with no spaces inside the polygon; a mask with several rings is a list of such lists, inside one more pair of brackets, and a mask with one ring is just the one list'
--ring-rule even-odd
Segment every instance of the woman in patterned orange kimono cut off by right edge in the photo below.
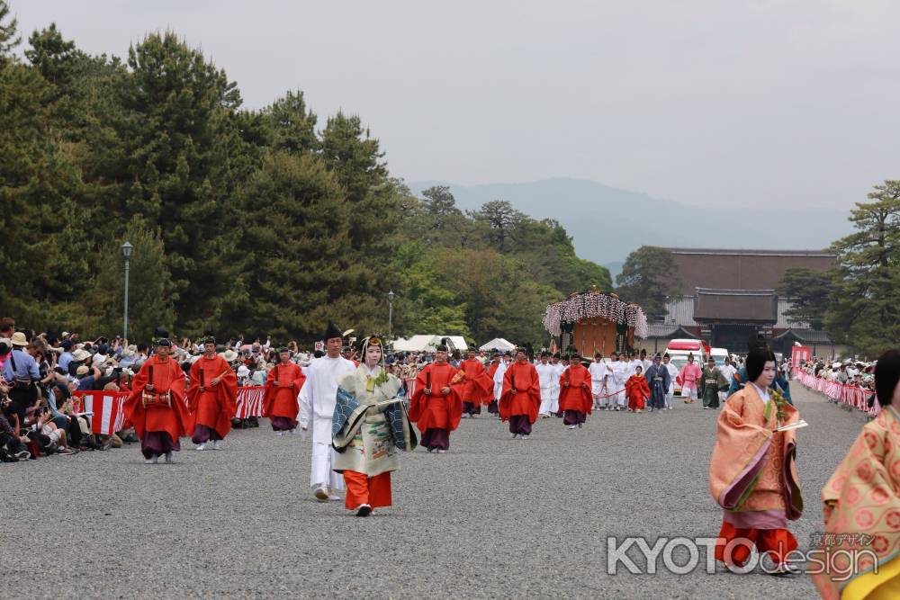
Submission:
{"label": "woman in patterned orange kimono cut off by right edge", "polygon": [[[900,350],[875,367],[881,412],[822,489],[825,534],[813,582],[825,600],[900,598]],[[852,557],[852,559],[851,559]],[[817,563],[817,564],[816,564]],[[822,569],[826,565],[826,569]]]}

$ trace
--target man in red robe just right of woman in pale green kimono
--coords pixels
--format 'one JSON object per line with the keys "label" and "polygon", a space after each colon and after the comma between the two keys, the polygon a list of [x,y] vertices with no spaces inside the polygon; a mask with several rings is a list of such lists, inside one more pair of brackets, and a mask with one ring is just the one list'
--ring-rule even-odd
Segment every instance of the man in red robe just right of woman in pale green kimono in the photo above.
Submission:
{"label": "man in red robe just right of woman in pale green kimono", "polygon": [[435,362],[416,377],[416,391],[410,404],[410,421],[419,426],[420,445],[428,452],[443,454],[450,448],[450,432],[463,418],[463,400],[458,386],[451,385],[456,370],[447,363],[446,345],[437,346]]}

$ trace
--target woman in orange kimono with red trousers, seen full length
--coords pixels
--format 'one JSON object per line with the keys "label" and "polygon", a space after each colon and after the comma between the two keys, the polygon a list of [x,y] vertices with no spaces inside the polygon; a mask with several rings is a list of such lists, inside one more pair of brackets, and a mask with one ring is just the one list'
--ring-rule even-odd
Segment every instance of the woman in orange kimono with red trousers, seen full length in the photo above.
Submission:
{"label": "woman in orange kimono with red trousers, seen full length", "polygon": [[716,560],[729,569],[743,568],[755,546],[774,563],[772,574],[797,572],[788,564],[797,539],[788,520],[800,518],[803,500],[794,457],[797,408],[778,391],[775,355],[767,347],[747,355],[750,384],[735,392],[718,417],[716,448],[709,464],[709,491],[723,509]]}

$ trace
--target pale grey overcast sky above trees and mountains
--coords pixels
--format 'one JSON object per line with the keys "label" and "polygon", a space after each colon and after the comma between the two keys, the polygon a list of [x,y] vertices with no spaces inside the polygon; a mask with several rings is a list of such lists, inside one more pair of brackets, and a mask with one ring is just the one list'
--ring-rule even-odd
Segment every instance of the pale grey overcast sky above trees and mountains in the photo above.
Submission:
{"label": "pale grey overcast sky above trees and mountains", "polygon": [[247,107],[359,114],[408,181],[849,209],[900,178],[890,0],[10,3],[24,37],[57,22],[90,53],[170,28]]}

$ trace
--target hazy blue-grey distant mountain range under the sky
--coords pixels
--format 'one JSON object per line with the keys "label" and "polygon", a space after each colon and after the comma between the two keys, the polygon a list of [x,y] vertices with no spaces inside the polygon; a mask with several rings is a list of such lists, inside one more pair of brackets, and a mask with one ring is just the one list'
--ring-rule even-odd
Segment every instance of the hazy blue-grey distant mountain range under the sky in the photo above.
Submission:
{"label": "hazy blue-grey distant mountain range under the sky", "polygon": [[534,219],[556,219],[572,236],[578,255],[607,266],[613,277],[626,256],[644,245],[820,250],[852,230],[849,207],[700,208],[585,179],[471,186],[438,181],[407,184],[419,196],[434,185],[447,185],[463,210],[505,200]]}

